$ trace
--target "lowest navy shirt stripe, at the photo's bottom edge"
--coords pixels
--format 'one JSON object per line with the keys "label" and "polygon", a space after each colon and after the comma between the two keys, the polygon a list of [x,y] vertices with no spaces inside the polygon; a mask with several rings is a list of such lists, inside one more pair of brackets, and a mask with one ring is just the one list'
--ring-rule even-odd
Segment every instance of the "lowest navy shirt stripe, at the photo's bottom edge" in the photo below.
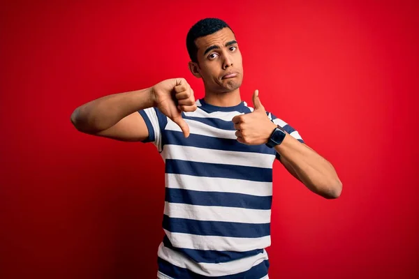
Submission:
{"label": "lowest navy shirt stripe, at the photo's bottom edge", "polygon": [[161,259],[161,257],[158,257],[157,264],[159,264],[159,271],[166,276],[170,276],[171,278],[176,279],[259,279],[263,278],[264,276],[267,276],[267,271],[269,270],[269,260],[266,259],[265,261],[261,262],[260,264],[257,264],[256,266],[251,267],[248,271],[236,273],[236,274],[230,274],[226,276],[203,276],[197,273],[194,273],[192,271],[189,271],[188,269],[183,269],[182,267],[175,266],[173,264],[170,264],[170,262],[166,262],[164,259]]}

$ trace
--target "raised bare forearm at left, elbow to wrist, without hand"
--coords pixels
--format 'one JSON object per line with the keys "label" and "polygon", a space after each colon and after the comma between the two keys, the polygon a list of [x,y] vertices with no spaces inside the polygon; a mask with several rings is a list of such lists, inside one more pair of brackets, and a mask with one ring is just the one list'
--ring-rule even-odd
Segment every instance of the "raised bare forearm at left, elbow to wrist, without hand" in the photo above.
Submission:
{"label": "raised bare forearm at left, elbow to wrist, without hand", "polygon": [[82,132],[96,133],[114,126],[133,112],[153,105],[151,87],[116,93],[81,105],[71,114],[71,121]]}

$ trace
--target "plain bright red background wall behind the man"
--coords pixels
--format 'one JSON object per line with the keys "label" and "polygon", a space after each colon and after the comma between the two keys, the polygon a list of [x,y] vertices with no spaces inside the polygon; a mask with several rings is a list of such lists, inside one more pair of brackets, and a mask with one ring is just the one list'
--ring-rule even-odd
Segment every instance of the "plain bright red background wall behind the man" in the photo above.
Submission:
{"label": "plain bright red background wall behind the man", "polygon": [[163,161],[70,115],[170,77],[202,98],[203,17],[237,34],[242,98],[259,89],[344,184],[323,199],[275,163],[270,277],[418,278],[418,1],[35,2],[1,4],[0,278],[155,278]]}

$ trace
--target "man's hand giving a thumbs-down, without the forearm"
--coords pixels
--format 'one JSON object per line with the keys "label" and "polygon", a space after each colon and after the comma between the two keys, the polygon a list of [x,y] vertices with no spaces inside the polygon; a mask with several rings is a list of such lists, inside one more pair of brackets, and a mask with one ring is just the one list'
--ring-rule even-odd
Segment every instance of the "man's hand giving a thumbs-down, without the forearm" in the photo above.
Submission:
{"label": "man's hand giving a thumbs-down, without the forearm", "polygon": [[152,86],[153,106],[172,119],[181,128],[185,137],[189,137],[189,126],[182,119],[182,112],[194,112],[197,107],[193,90],[184,78],[163,80]]}

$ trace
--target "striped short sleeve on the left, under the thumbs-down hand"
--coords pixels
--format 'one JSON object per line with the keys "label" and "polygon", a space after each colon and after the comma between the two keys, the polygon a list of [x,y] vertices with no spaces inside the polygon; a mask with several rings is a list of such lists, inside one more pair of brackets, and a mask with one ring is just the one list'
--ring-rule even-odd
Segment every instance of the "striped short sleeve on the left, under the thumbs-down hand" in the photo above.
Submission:
{"label": "striped short sleeve on the left, under the thumbs-down hand", "polygon": [[153,142],[157,150],[163,150],[163,131],[168,123],[167,116],[162,114],[156,107],[149,107],[138,111],[145,121],[148,137],[142,142]]}

